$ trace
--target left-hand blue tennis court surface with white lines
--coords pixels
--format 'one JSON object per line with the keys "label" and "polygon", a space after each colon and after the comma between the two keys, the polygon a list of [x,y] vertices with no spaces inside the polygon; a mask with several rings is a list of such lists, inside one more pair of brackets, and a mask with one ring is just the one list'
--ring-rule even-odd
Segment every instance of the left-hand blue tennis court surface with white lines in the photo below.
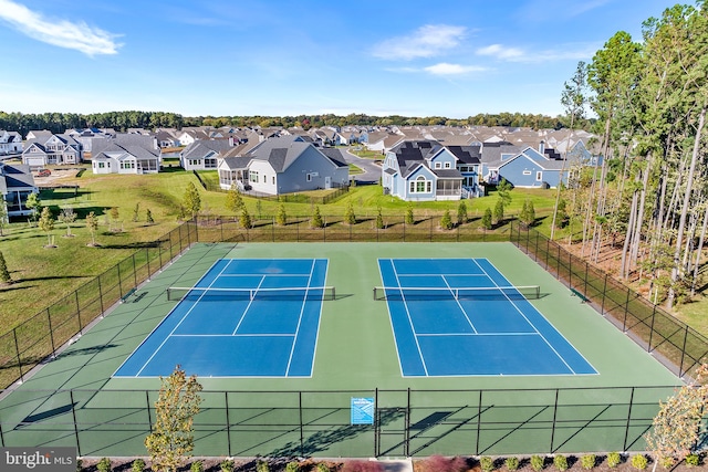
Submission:
{"label": "left-hand blue tennis court surface with white lines", "polygon": [[310,377],[325,259],[222,259],[115,373]]}

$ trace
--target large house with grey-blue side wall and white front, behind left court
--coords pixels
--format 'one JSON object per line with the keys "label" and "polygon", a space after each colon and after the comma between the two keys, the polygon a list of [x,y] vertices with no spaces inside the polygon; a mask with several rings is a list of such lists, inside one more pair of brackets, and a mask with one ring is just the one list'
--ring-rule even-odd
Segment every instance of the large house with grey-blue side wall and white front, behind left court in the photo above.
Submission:
{"label": "large house with grey-blue side wall and white front, behind left court", "polygon": [[302,136],[267,139],[249,154],[219,161],[219,185],[266,195],[348,185],[348,166],[340,149],[317,148]]}

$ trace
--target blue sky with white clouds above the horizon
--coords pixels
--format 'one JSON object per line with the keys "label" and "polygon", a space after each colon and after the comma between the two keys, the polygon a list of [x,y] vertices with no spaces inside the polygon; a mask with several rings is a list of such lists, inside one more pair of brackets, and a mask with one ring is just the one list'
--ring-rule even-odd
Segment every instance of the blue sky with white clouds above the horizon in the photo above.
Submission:
{"label": "blue sky with white clouds above the horizon", "polygon": [[671,4],[0,0],[0,111],[554,116],[579,61]]}

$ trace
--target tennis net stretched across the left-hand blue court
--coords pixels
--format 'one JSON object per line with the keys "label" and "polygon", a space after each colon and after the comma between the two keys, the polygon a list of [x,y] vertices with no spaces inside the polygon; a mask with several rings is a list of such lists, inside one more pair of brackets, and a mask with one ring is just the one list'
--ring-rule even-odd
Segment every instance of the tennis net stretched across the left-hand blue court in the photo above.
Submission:
{"label": "tennis net stretched across the left-hand blue court", "polygon": [[218,289],[180,287],[167,289],[167,300],[194,302],[227,302],[231,300],[334,300],[333,286],[280,287],[280,289]]}

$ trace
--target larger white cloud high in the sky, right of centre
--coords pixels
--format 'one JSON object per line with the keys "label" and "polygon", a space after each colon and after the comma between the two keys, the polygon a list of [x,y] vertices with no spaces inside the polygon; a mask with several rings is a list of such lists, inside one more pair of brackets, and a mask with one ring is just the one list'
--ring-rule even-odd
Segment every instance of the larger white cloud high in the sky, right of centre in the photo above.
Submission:
{"label": "larger white cloud high in the sky, right of centre", "polygon": [[388,60],[409,61],[431,57],[456,48],[465,38],[467,29],[450,24],[426,24],[412,34],[396,36],[376,44],[373,55]]}

